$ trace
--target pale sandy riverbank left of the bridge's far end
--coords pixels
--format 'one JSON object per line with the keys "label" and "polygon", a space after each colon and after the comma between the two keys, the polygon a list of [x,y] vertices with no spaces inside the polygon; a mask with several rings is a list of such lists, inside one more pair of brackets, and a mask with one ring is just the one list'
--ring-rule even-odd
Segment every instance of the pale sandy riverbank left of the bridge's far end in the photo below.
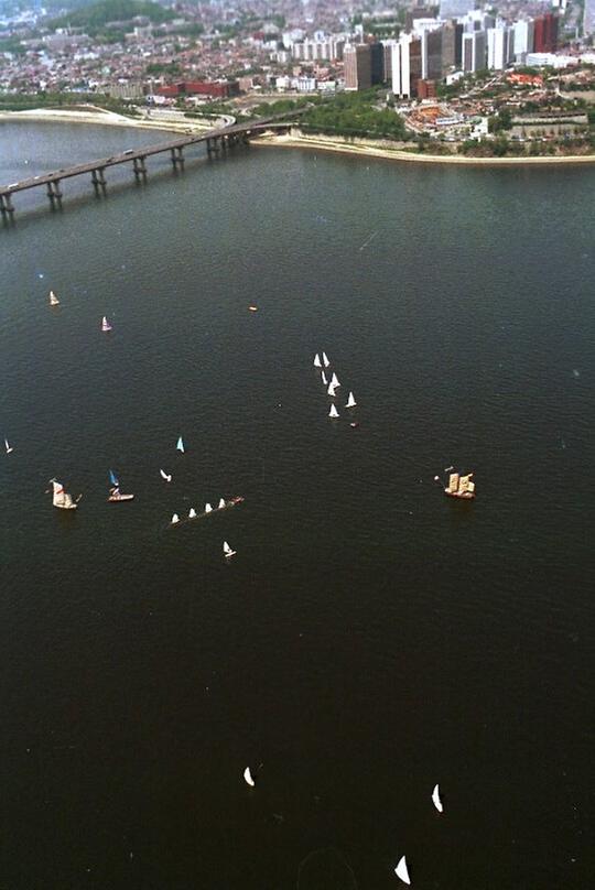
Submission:
{"label": "pale sandy riverbank left of the bridge's far end", "polygon": [[88,106],[84,109],[79,107],[72,110],[66,107],[34,108],[28,111],[0,111],[0,122],[98,123],[101,127],[132,127],[139,130],[162,130],[173,133],[203,133],[217,126],[225,127],[226,123],[226,121],[219,123],[218,121],[184,118],[182,112],[180,112],[180,119],[164,119],[159,116],[159,111],[153,111],[152,113],[154,117],[129,118],[126,115],[106,111],[104,108],[97,108],[96,106]]}

